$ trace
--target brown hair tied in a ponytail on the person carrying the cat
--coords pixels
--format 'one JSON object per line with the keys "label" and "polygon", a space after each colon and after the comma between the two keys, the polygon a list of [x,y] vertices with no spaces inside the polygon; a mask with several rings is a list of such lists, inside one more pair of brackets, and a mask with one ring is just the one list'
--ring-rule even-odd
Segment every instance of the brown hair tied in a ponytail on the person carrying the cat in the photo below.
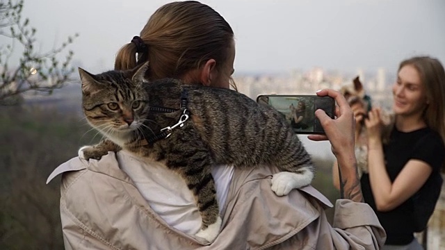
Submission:
{"label": "brown hair tied in a ponytail on the person carrying the cat", "polygon": [[182,78],[209,59],[216,69],[227,61],[234,32],[213,8],[197,1],[172,2],[161,6],[140,31],[147,50],[125,44],[115,58],[115,69],[133,69],[149,61],[147,80]]}

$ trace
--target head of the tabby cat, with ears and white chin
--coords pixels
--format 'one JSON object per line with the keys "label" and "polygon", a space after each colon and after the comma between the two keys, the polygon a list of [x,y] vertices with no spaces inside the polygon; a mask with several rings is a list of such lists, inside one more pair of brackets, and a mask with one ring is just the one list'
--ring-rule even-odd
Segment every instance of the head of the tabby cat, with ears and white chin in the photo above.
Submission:
{"label": "head of the tabby cat, with ears and white chin", "polygon": [[[143,73],[111,71],[92,75],[79,69],[82,106],[88,123],[108,138],[125,140],[145,121],[149,107]],[[147,84],[147,83],[145,83]]]}

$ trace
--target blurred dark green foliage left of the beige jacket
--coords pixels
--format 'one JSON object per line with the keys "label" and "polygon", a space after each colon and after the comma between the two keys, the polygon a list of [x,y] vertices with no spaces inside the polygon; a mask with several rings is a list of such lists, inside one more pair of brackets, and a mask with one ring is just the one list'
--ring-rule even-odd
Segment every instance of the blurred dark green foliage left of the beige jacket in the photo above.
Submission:
{"label": "blurred dark green foliage left of the beige jacket", "polygon": [[60,177],[45,182],[92,143],[89,129],[78,116],[57,110],[0,107],[0,249],[63,249]]}

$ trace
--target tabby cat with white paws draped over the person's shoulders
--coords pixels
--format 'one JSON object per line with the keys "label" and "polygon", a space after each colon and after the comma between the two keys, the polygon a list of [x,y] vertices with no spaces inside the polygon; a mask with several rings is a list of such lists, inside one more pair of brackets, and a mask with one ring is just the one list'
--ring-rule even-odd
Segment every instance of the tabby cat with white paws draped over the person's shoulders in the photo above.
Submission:
{"label": "tabby cat with white paws draped over the person's shoulders", "polygon": [[234,90],[183,85],[165,78],[148,83],[148,63],[128,71],[93,75],[79,68],[83,112],[105,139],[79,149],[99,159],[125,149],[165,163],[193,192],[202,215],[197,236],[211,242],[219,233],[211,167],[274,165],[282,172],[272,190],[282,196],[311,183],[314,167],[282,115]]}

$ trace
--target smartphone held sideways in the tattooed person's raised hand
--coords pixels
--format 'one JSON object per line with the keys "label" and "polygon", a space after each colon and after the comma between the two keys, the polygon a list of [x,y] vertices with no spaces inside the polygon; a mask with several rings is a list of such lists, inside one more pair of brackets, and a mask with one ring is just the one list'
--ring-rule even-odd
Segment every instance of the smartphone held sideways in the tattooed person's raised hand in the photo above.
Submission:
{"label": "smartphone held sideways in the tattooed person's raised hand", "polygon": [[298,134],[325,134],[320,120],[315,116],[315,110],[325,110],[332,119],[335,115],[335,100],[332,97],[260,94],[257,103],[272,106],[280,111],[293,131]]}

